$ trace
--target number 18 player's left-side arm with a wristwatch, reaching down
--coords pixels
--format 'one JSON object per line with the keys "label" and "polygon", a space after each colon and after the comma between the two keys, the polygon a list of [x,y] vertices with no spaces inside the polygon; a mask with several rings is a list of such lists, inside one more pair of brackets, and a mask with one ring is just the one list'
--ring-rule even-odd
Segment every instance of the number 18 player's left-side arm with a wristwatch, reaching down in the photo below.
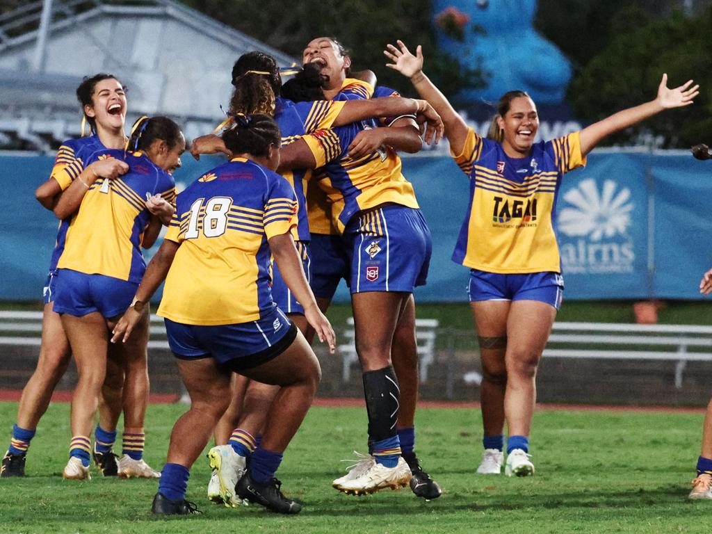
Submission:
{"label": "number 18 player's left-side arm with a wristwatch, reaching down", "polygon": [[170,241],[169,239],[163,240],[158,252],[153,256],[146,268],[146,272],[136,290],[136,296],[133,302],[111,332],[112,343],[117,341],[125,343],[130,337],[133,329],[143,315],[149,300],[151,300],[153,293],[156,292],[158,287],[166,279],[179,246],[180,244],[175,241]]}

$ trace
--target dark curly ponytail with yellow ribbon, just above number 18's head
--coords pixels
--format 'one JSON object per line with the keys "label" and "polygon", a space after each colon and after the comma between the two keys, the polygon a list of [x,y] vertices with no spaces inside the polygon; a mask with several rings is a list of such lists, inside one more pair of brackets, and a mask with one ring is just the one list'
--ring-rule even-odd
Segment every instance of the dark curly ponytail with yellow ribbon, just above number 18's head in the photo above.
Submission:
{"label": "dark curly ponytail with yellow ribbon, just above number 18's head", "polygon": [[240,56],[232,68],[232,85],[230,112],[274,115],[282,78],[272,56],[257,51]]}

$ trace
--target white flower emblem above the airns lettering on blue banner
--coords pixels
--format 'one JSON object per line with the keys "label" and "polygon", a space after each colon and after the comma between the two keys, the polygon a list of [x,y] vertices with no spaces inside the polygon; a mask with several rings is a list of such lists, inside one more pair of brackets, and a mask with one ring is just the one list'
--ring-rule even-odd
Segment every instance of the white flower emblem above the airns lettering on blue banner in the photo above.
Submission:
{"label": "white flower emblem above the airns lettering on blue banner", "polygon": [[585,179],[564,195],[564,200],[575,207],[559,212],[558,227],[567,236],[588,234],[592,241],[600,241],[603,236],[625,235],[634,207],[629,199],[630,189],[624,187],[616,192],[616,183],[612,180],[603,183],[599,195],[595,180]]}

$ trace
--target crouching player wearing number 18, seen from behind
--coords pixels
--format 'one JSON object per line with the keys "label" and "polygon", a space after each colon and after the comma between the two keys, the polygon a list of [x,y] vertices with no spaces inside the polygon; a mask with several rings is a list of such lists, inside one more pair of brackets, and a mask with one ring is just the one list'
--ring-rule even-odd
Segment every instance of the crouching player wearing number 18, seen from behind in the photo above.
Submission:
{"label": "crouching player wearing number 18, seen from behind", "polygon": [[264,436],[249,467],[243,464],[236,487],[224,489],[294,514],[300,505],[283,496],[274,476],[310,407],[320,367],[303,335],[273,302],[271,257],[332,352],[335,338],[294,246],[294,190],[273,172],[281,145],[276,123],[267,115],[238,115],[222,138],[230,161],[177,197],[166,238],[113,340],[130,340],[142,306],[165,279],[158,313],[165,318],[191,407],[173,428],[153,513],[194,511],[185,499],[189,469],[229,405],[231,374],[237,372],[279,390],[264,407]]}

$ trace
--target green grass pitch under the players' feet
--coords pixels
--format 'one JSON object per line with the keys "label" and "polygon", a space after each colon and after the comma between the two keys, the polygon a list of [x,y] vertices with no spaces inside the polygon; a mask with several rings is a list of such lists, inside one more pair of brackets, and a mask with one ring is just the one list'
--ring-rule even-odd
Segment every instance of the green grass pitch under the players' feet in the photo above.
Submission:
{"label": "green grass pitch under the players' feet", "polygon": [[[185,409],[154,405],[147,461],[161,466],[169,431]],[[9,439],[16,404],[0,403]],[[689,501],[701,413],[540,411],[532,436],[537,473],[530,478],[475,476],[481,420],[471,409],[421,409],[418,450],[444,495],[426,503],[410,491],[355,498],[337,493],[351,449],[363,449],[360,408],[313,408],[278,473],[304,503],[297,517],[258,506],[229,509],[206,501],[209,469],[192,471],[192,518],[155,518],[155,481],[63,481],[68,405],[53,404],[28,456],[25,479],[0,480],[1,533],[701,533],[712,502]]]}

